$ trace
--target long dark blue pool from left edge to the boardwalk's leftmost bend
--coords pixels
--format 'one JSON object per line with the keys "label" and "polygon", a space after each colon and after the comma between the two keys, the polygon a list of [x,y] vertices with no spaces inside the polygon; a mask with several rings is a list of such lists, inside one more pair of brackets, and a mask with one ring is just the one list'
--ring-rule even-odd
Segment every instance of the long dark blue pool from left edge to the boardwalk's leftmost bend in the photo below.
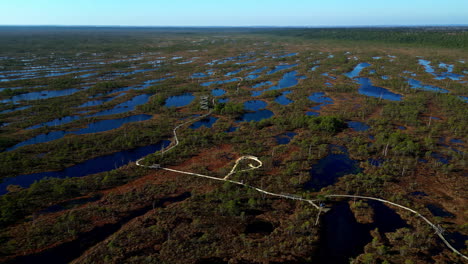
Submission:
{"label": "long dark blue pool from left edge to the boardwalk's leftmost bend", "polygon": [[146,155],[152,154],[169,146],[170,141],[164,140],[154,145],[139,147],[131,150],[124,150],[110,155],[101,156],[79,163],[75,166],[66,168],[62,171],[40,172],[33,174],[23,174],[13,178],[6,178],[0,183],[0,195],[6,193],[6,187],[10,184],[19,185],[27,188],[35,181],[39,181],[46,177],[51,178],[66,178],[66,177],[83,177],[95,173],[111,171],[117,169],[129,162],[134,162]]}

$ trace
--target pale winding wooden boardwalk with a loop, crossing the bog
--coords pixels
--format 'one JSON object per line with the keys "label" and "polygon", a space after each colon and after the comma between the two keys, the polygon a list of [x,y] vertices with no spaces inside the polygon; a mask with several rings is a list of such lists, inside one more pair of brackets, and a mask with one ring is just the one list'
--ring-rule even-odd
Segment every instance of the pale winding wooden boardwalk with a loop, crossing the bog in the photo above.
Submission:
{"label": "pale winding wooden boardwalk with a loop, crossing the bog", "polygon": [[[205,115],[202,115],[202,116],[199,116],[197,118],[191,119],[191,120],[189,120],[187,122],[184,122],[184,123],[176,126],[174,128],[174,130],[173,130],[175,144],[169,145],[165,150],[162,150],[161,153],[167,152],[167,151],[175,148],[177,145],[179,145],[179,139],[177,138],[177,129],[181,128],[182,126],[184,126],[186,124],[193,123],[193,122],[195,122],[197,120],[203,119],[203,118],[211,115],[211,113],[212,113],[212,110],[210,110]],[[144,168],[151,168],[151,169],[157,168],[157,169],[162,169],[162,170],[166,170],[166,171],[171,171],[171,172],[176,172],[176,173],[181,173],[181,174],[186,174],[186,175],[191,175],[191,176],[196,176],[196,177],[202,177],[202,178],[215,180],[215,181],[230,182],[230,183],[233,183],[233,184],[241,185],[241,186],[256,190],[256,191],[258,191],[260,193],[264,193],[264,194],[267,194],[267,195],[270,195],[270,196],[275,196],[275,197],[280,197],[280,198],[285,198],[285,199],[291,199],[291,200],[296,200],[296,201],[307,202],[307,203],[311,204],[312,206],[314,206],[315,208],[317,208],[319,210],[319,215],[320,215],[321,211],[326,211],[327,210],[326,208],[323,208],[323,207],[317,205],[316,202],[319,201],[317,199],[311,200],[311,199],[305,199],[305,198],[302,198],[302,197],[299,197],[299,196],[294,196],[294,195],[291,195],[291,194],[272,193],[272,192],[268,192],[268,191],[265,191],[263,189],[260,189],[260,188],[245,184],[243,182],[234,181],[234,180],[229,179],[230,176],[232,176],[233,174],[235,174],[237,172],[245,172],[245,171],[255,170],[255,169],[258,169],[258,168],[262,167],[262,165],[263,165],[262,161],[260,161],[260,159],[258,159],[255,156],[247,155],[247,156],[242,156],[242,157],[238,158],[235,161],[235,164],[232,167],[231,171],[226,176],[224,176],[223,178],[218,178],[218,177],[213,177],[213,176],[208,176],[208,175],[203,175],[203,174],[193,173],[193,172],[188,172],[188,171],[180,171],[180,170],[175,170],[175,169],[163,168],[163,167],[160,167],[158,164],[147,166],[147,165],[141,164],[141,161],[143,161],[144,159],[145,158],[141,158],[141,159],[137,160],[136,165],[138,165],[140,167],[144,167]],[[254,163],[249,163],[248,164],[249,168],[247,168],[247,169],[242,169],[242,170],[236,171],[237,166],[240,164],[240,162],[242,162],[244,160],[253,161]],[[447,241],[447,239],[443,236],[443,230],[439,226],[433,224],[431,221],[429,221],[422,214],[418,213],[417,211],[415,211],[415,210],[413,210],[413,209],[411,209],[409,207],[406,207],[406,206],[403,206],[403,205],[400,205],[400,204],[397,204],[397,203],[394,203],[394,202],[391,202],[391,201],[388,201],[388,200],[376,198],[376,197],[368,197],[368,196],[360,196],[360,195],[330,194],[330,195],[325,195],[325,197],[327,197],[327,198],[353,198],[353,199],[374,200],[374,201],[379,201],[379,202],[382,202],[382,203],[385,203],[385,204],[390,204],[390,205],[396,206],[398,208],[404,209],[406,211],[409,211],[409,212],[415,214],[416,216],[421,217],[426,223],[428,223],[436,231],[437,235],[440,237],[440,239],[442,239],[444,244],[450,250],[452,250],[455,254],[459,255],[463,259],[468,260],[467,256],[463,255],[460,251],[455,249],[450,244],[450,242]],[[318,218],[317,218],[317,221],[318,221]]]}

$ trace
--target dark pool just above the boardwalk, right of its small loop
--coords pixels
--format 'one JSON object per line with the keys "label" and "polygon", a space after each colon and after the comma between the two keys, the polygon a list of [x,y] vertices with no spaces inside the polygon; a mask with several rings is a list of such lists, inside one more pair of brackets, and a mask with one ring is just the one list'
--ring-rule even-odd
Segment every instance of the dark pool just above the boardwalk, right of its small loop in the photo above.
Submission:
{"label": "dark pool just above the boardwalk, right of its small loop", "polygon": [[[333,146],[332,146],[333,148]],[[346,174],[357,174],[361,170],[358,162],[349,158],[346,149],[343,154],[330,153],[310,170],[311,179],[304,184],[304,189],[319,191],[324,187],[333,185],[338,178]]]}

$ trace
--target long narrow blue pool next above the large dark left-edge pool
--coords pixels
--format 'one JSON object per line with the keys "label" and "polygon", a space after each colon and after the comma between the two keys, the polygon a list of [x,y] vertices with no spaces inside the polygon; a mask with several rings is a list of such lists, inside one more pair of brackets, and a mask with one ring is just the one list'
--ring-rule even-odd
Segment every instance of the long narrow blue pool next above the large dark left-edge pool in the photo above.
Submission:
{"label": "long narrow blue pool next above the large dark left-edge pool", "polygon": [[73,131],[53,131],[53,132],[50,132],[50,133],[47,133],[47,134],[40,134],[40,135],[35,136],[35,137],[31,138],[31,139],[20,142],[20,143],[14,145],[11,148],[8,148],[6,151],[12,151],[12,150],[15,150],[15,149],[17,149],[19,147],[23,147],[23,146],[50,142],[50,141],[53,141],[53,140],[56,140],[56,139],[63,138],[67,134],[83,135],[83,134],[90,134],[90,133],[105,132],[105,131],[109,131],[109,130],[119,128],[119,127],[121,127],[121,126],[123,126],[124,124],[127,124],[127,123],[145,121],[145,120],[148,120],[150,118],[152,118],[151,115],[134,115],[134,116],[124,117],[124,118],[119,118],[119,119],[110,119],[110,120],[98,121],[98,122],[89,124],[85,128],[78,129],[78,130],[73,130]]}

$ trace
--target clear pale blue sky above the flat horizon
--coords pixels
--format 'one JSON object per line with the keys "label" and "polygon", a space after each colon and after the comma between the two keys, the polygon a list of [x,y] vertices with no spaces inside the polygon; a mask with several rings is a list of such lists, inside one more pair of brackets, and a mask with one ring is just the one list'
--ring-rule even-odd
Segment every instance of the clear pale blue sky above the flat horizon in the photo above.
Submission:
{"label": "clear pale blue sky above the flat horizon", "polygon": [[468,24],[468,0],[0,0],[0,25]]}

